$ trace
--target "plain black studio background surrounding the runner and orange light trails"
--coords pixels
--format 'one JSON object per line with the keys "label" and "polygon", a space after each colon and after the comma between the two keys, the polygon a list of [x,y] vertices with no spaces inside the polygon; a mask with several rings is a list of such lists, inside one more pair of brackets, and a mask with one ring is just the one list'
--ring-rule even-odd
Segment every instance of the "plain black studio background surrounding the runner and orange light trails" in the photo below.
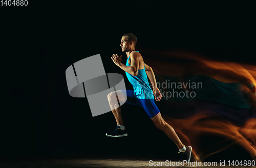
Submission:
{"label": "plain black studio background surrounding the runner and orange light trails", "polygon": [[[138,49],[179,48],[254,65],[251,8],[250,3],[157,1],[29,1],[27,7],[1,6],[0,157],[178,159],[176,145],[140,107],[123,105],[128,137],[105,137],[116,127],[114,116],[109,112],[92,117],[87,98],[69,95],[65,71],[78,60],[100,54],[106,73],[124,76],[111,56],[122,54],[120,38],[130,32],[138,38]],[[127,79],[125,83],[132,89]],[[242,154],[236,157],[232,150]],[[209,160],[248,158],[239,146],[232,150]]]}

